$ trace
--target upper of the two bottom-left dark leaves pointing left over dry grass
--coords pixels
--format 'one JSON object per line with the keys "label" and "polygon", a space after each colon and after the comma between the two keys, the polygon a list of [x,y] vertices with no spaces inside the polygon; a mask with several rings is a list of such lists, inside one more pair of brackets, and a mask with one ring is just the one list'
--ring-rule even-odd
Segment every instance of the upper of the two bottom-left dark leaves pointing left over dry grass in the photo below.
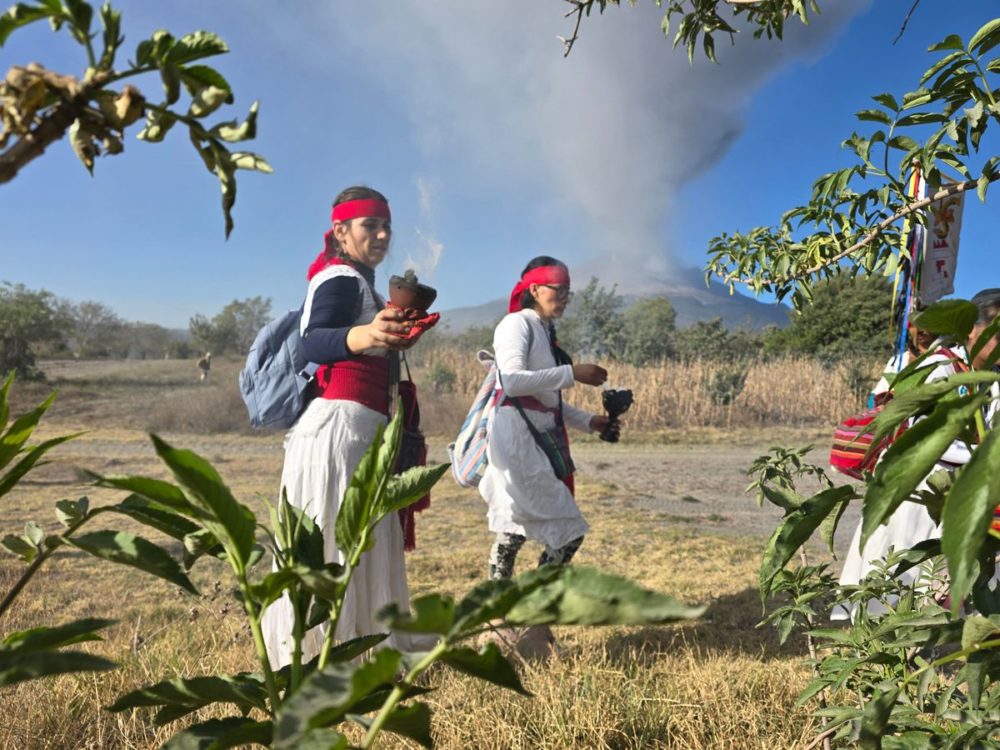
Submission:
{"label": "upper of the two bottom-left dark leaves pointing left over dry grass", "polygon": [[143,706],[178,709],[157,715],[156,723],[163,725],[213,703],[234,703],[243,711],[252,708],[266,711],[267,690],[263,679],[252,674],[177,678],[126,693],[107,710],[117,712]]}

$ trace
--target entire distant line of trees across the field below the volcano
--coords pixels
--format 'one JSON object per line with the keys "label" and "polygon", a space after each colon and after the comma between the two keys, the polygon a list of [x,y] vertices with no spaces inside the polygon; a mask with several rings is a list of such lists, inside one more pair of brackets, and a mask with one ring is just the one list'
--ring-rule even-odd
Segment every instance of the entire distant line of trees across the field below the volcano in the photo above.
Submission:
{"label": "entire distant line of trees across the field below the volcano", "polygon": [[[813,303],[791,312],[786,328],[727,330],[721,319],[678,328],[666,297],[625,307],[615,288],[597,279],[581,289],[559,321],[560,345],[574,357],[649,365],[663,360],[746,362],[760,357],[813,356],[831,365],[887,357],[891,290],[880,278],[836,277],[817,285]],[[190,358],[243,355],[271,319],[271,300],[233,300],[215,316],[197,314],[188,335],[153,323],[122,320],[101,302],[70,302],[23,284],[0,283],[0,373],[37,377],[38,357]],[[492,326],[461,334],[431,331],[411,354],[420,363],[442,346],[488,347]]]}

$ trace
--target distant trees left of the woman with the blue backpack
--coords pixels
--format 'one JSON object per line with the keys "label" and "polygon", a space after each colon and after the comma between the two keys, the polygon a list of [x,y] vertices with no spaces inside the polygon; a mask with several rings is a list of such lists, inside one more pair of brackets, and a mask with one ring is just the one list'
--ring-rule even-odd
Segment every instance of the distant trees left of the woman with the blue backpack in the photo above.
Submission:
{"label": "distant trees left of the woman with the blue backpack", "polygon": [[0,282],[0,374],[37,378],[39,358],[187,359],[206,351],[243,354],[270,319],[271,301],[233,300],[215,317],[191,318],[178,335],[123,320],[102,302],[72,302],[24,284]]}

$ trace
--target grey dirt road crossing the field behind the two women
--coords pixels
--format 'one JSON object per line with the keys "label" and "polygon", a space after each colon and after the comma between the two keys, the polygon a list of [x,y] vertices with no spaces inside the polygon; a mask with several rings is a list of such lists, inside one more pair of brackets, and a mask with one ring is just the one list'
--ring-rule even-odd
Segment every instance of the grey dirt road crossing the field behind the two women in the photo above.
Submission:
{"label": "grey dirt road crossing the field behind the two women", "polygon": [[[282,436],[165,435],[177,447],[188,448],[217,464],[228,477],[231,472],[260,472],[275,480],[280,473]],[[768,537],[781,517],[776,507],[758,508],[745,493],[746,469],[772,443],[760,445],[712,444],[608,445],[576,443],[573,455],[580,482],[587,489],[581,504],[612,504],[649,514],[650,522],[709,534]],[[794,441],[793,441],[794,444]],[[446,461],[443,439],[430,440],[430,461]],[[813,450],[808,460],[826,464],[824,449]],[[157,464],[149,438],[136,430],[95,430],[61,446],[57,462],[34,474],[45,483],[68,483],[77,478],[75,467],[99,472],[147,471]],[[250,480],[250,477],[246,477]],[[251,480],[253,481],[253,480]],[[257,479],[255,484],[262,480]],[[449,481],[445,479],[443,481]],[[237,482],[239,483],[239,482]],[[594,487],[594,485],[597,485]],[[257,487],[256,490],[270,489]],[[803,492],[812,491],[808,487]],[[852,504],[837,534],[838,556],[842,556],[857,524],[860,505]],[[588,510],[593,515],[595,510]],[[592,518],[592,522],[598,519]]]}

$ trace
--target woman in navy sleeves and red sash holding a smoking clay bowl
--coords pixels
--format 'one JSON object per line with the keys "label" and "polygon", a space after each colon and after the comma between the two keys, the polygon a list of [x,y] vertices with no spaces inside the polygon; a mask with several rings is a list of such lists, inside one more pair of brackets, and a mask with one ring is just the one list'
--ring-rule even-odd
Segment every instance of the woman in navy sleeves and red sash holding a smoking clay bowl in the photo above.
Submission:
{"label": "woman in navy sleeves and red sash holding a smoking clay bowl", "polygon": [[[326,559],[343,562],[334,533],[341,498],[376,431],[388,420],[390,385],[399,372],[397,352],[420,336],[408,336],[403,311],[387,308],[375,291],[375,267],[385,259],[392,237],[385,196],[367,187],[348,188],[334,201],[332,221],[325,247],[309,267],[302,310],[306,355],[322,363],[316,398],[285,437],[281,487],[288,501],[322,528]],[[391,517],[376,528],[375,546],[354,572],[337,639],[381,631],[375,614],[390,603],[409,610],[403,529]],[[291,661],[293,624],[287,597],[265,614],[268,653],[276,667]],[[319,653],[324,634],[323,626],[306,634],[304,661]],[[412,650],[405,634],[393,634],[389,643]]]}

